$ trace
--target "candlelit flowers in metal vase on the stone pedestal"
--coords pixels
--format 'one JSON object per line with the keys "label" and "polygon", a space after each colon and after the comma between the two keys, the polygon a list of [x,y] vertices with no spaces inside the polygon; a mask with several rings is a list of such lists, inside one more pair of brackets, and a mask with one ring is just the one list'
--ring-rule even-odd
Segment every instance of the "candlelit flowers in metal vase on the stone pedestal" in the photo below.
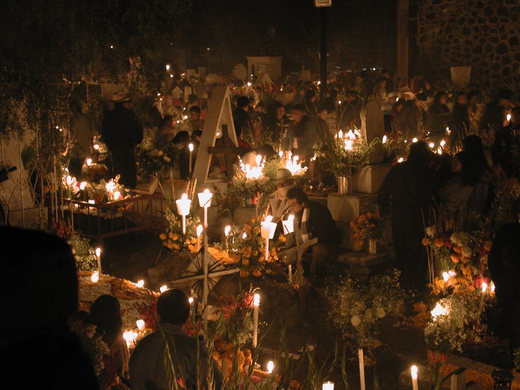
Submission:
{"label": "candlelit flowers in metal vase on the stone pedestal", "polygon": [[334,137],[329,134],[326,139],[327,150],[318,150],[316,154],[324,159],[326,168],[336,177],[355,174],[367,162],[370,151],[378,141],[374,139],[369,144],[357,129],[347,133],[340,130]]}

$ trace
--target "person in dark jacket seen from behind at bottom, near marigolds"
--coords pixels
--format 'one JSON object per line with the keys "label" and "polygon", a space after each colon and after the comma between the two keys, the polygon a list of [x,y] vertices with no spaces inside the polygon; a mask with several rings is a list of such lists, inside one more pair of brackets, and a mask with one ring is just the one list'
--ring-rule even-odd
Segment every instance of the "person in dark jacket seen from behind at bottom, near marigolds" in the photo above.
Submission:
{"label": "person in dark jacket seen from behind at bottom, near marigolds", "polygon": [[[183,329],[183,325],[190,317],[190,303],[188,297],[180,290],[166,290],[157,300],[157,313],[160,317],[158,328],[148,334],[137,343],[130,358],[130,380],[133,390],[168,389],[173,384],[167,383],[166,370],[173,375],[175,380],[182,382],[180,387],[187,390],[197,389],[200,382],[201,388],[220,390],[222,386],[222,374],[217,362],[213,362],[213,381],[207,383],[209,370],[207,366],[208,352],[203,342],[189,336]],[[168,343],[171,363],[164,363],[165,343]],[[199,345],[197,345],[200,343]],[[199,354],[199,361],[197,361]],[[198,375],[197,375],[198,373]],[[211,375],[210,375],[211,376]]]}

